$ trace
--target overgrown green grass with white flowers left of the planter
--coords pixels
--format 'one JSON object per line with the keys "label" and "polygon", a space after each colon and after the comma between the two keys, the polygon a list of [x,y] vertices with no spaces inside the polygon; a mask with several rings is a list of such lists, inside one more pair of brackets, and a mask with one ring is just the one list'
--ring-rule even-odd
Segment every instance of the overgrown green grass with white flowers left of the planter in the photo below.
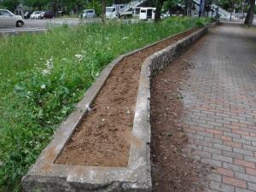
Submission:
{"label": "overgrown green grass with white flowers left of the planter", "polygon": [[95,23],[1,38],[0,191],[20,191],[20,178],[110,61],[209,21]]}

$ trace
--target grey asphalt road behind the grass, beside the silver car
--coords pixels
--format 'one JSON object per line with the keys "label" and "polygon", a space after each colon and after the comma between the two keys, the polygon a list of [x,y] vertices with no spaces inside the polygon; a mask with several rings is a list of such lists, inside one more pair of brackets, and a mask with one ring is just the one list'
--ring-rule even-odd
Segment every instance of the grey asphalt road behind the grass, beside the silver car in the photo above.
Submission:
{"label": "grey asphalt road behind the grass, beside the silver car", "polygon": [[90,23],[97,22],[99,19],[93,20],[79,20],[78,18],[64,18],[64,19],[52,19],[52,20],[25,20],[25,26],[23,27],[1,27],[0,26],[0,35],[2,34],[18,34],[20,32],[44,32],[49,27],[61,26],[67,24],[68,26],[76,26],[80,23]]}

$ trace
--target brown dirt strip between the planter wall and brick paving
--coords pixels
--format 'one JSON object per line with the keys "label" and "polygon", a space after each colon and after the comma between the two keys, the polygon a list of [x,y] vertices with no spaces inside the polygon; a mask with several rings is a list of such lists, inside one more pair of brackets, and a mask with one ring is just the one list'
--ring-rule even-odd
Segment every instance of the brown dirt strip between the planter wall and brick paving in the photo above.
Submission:
{"label": "brown dirt strip between the planter wall and brick paving", "polygon": [[[202,39],[200,40],[203,41]],[[200,192],[207,186],[211,167],[184,152],[189,143],[181,123],[183,96],[179,89],[189,76],[189,57],[195,44],[184,55],[160,70],[151,81],[151,162],[154,192]]]}

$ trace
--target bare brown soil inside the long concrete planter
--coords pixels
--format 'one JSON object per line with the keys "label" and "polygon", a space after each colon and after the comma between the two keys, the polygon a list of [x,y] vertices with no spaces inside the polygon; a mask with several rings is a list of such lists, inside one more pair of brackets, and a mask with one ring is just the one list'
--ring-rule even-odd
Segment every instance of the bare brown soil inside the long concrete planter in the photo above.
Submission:
{"label": "bare brown soil inside the long concrete planter", "polygon": [[195,32],[169,38],[125,57],[108,80],[77,127],[73,137],[55,160],[56,164],[80,166],[127,166],[137,90],[143,61]]}

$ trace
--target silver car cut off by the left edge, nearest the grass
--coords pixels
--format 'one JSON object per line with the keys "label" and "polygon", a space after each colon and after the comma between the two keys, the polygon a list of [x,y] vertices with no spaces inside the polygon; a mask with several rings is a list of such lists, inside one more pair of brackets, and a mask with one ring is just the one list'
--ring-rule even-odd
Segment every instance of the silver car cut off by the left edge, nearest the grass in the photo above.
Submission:
{"label": "silver car cut off by the left edge, nearest the grass", "polygon": [[7,9],[0,9],[0,26],[24,26],[25,22],[20,15],[14,15]]}

